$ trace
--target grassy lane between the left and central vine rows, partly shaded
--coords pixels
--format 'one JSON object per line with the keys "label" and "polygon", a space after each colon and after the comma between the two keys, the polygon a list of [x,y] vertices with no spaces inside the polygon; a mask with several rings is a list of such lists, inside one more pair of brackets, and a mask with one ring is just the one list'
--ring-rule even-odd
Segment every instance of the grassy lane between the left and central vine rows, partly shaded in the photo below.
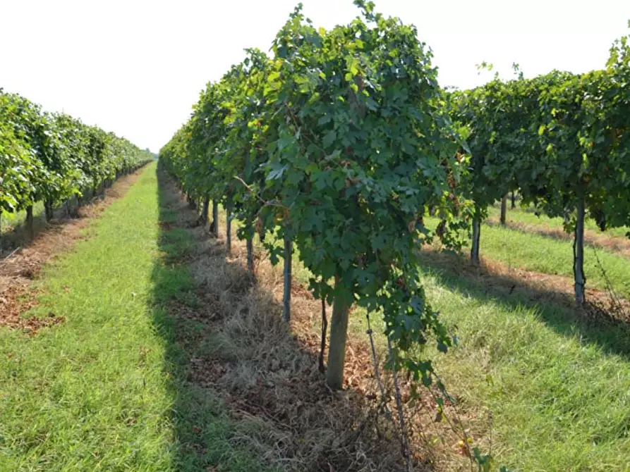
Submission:
{"label": "grassy lane between the left and central vine rows, partly shaded", "polygon": [[260,470],[232,446],[220,402],[186,381],[176,333],[194,327],[166,300],[190,290],[172,263],[190,240],[161,235],[171,213],[152,164],[44,271],[28,314],[65,323],[35,337],[0,328],[0,471]]}

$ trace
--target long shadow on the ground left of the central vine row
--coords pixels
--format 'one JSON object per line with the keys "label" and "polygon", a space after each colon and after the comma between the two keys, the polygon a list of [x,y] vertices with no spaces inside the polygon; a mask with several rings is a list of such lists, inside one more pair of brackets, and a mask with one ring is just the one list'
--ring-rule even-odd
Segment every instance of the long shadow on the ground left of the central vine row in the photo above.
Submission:
{"label": "long shadow on the ground left of the central vine row", "polygon": [[269,290],[194,227],[162,171],[158,181],[153,317],[173,389],[174,469],[403,470],[391,422],[356,389],[327,390],[318,337],[282,323]]}

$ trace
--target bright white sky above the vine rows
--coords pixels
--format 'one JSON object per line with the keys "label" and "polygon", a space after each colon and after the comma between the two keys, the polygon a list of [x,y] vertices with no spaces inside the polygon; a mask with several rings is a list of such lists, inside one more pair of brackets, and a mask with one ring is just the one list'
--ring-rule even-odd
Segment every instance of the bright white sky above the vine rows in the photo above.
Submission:
{"label": "bright white sky above the vine rows", "polygon": [[[0,0],[0,87],[49,111],[159,151],[200,89],[243,49],[267,51],[298,0]],[[303,0],[315,26],[347,23],[351,0]],[[377,0],[377,11],[418,27],[442,85],[553,68],[602,68],[628,32],[629,0]]]}

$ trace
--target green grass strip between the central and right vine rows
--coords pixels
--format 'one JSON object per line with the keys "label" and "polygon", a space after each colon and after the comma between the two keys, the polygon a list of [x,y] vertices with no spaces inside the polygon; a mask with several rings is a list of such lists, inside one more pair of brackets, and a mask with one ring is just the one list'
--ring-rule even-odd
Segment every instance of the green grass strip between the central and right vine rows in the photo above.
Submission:
{"label": "green grass strip between the central and right vine rows", "polygon": [[630,470],[630,330],[427,268],[428,298],[461,345],[436,354],[460,408],[492,411],[514,471]]}

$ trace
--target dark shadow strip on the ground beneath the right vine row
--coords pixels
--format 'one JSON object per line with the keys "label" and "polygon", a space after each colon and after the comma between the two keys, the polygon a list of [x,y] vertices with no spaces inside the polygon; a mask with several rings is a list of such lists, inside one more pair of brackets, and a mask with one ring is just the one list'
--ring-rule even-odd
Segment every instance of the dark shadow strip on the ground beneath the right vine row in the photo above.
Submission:
{"label": "dark shadow strip on the ground beneath the right vine row", "polygon": [[572,297],[553,287],[543,287],[514,275],[493,273],[486,268],[473,268],[464,256],[423,251],[420,260],[425,271],[449,290],[508,309],[523,306],[535,309],[560,335],[574,337],[578,334],[584,342],[596,343],[608,354],[630,359],[630,325],[613,319],[619,316],[617,313],[603,312],[599,307],[588,313],[578,311]]}

